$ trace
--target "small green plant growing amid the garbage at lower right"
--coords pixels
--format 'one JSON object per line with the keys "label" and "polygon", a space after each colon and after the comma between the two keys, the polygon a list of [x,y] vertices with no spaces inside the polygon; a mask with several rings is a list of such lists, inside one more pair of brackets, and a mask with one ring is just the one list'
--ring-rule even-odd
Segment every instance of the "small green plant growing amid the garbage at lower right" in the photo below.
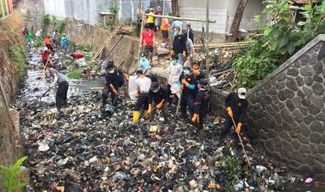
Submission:
{"label": "small green plant growing amid the garbage at lower right", "polygon": [[236,178],[240,177],[242,170],[235,157],[219,157],[219,164],[225,171],[224,181],[226,183],[225,191],[235,191],[234,183]]}

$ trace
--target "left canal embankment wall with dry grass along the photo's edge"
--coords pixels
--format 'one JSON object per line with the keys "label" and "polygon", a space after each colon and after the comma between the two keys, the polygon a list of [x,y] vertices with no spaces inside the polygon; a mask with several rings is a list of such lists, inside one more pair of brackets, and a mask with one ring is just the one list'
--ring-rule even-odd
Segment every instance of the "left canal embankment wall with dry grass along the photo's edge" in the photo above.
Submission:
{"label": "left canal embankment wall with dry grass along the photo's edge", "polygon": [[19,114],[9,109],[24,75],[22,19],[11,15],[0,24],[0,164],[10,166],[22,157]]}

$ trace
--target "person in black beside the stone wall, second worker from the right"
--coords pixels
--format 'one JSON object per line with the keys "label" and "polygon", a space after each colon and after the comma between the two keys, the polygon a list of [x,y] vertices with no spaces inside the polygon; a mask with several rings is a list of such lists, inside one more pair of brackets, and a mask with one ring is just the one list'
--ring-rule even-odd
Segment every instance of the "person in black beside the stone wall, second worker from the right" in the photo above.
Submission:
{"label": "person in black beside the stone wall, second worker from the right", "polygon": [[203,120],[206,114],[208,114],[208,106],[210,102],[210,93],[208,92],[208,81],[206,79],[200,79],[198,83],[198,94],[195,97],[195,109],[192,122],[198,120],[200,125],[198,129],[203,129]]}

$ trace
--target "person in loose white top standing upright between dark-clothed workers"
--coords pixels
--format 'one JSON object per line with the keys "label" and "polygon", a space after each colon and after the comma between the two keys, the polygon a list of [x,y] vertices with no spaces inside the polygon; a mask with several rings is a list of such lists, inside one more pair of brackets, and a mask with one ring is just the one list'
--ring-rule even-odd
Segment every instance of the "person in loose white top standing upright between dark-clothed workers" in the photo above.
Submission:
{"label": "person in loose white top standing upright between dark-clothed workers", "polygon": [[168,90],[168,103],[171,104],[171,87],[178,87],[178,79],[180,78],[180,74],[182,74],[183,67],[178,63],[178,56],[173,55],[171,65],[168,68],[170,74],[168,79],[166,79],[166,87]]}

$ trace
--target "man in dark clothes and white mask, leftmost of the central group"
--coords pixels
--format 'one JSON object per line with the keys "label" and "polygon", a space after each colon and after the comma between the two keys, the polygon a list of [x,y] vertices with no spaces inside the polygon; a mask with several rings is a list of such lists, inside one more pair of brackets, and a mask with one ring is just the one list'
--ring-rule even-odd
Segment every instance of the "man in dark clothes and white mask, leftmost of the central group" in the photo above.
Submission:
{"label": "man in dark clothes and white mask, leftmost of the central group", "polygon": [[103,97],[103,103],[101,106],[105,106],[107,104],[108,93],[110,93],[112,98],[112,104],[115,106],[117,104],[117,97],[119,92],[120,86],[120,78],[119,76],[122,75],[122,71],[119,69],[114,69],[113,62],[109,62],[107,64],[107,73],[105,76],[106,84],[103,89],[103,93],[101,96]]}

